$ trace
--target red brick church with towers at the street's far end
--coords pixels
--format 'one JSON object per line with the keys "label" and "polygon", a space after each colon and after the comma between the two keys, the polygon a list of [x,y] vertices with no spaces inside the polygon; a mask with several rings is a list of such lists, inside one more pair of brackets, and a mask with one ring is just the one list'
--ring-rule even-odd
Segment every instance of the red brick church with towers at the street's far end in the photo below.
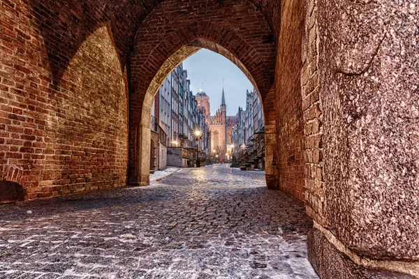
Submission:
{"label": "red brick church with towers at the street's far end", "polygon": [[232,135],[233,128],[236,126],[237,116],[227,115],[224,89],[220,108],[214,115],[211,115],[210,97],[204,91],[200,90],[196,94],[196,100],[198,101],[198,107],[204,112],[205,123],[210,128],[212,155],[218,155],[220,160],[223,161],[228,160],[227,154],[231,144],[233,144]]}

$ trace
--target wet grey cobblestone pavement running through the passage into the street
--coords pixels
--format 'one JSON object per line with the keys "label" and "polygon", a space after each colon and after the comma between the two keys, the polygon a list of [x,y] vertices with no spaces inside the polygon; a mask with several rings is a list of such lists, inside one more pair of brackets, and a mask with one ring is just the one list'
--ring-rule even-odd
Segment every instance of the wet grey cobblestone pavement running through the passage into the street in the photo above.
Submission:
{"label": "wet grey cobblestone pavement running through the passage into the street", "polygon": [[318,278],[311,221],[264,174],[212,165],[0,206],[0,278]]}

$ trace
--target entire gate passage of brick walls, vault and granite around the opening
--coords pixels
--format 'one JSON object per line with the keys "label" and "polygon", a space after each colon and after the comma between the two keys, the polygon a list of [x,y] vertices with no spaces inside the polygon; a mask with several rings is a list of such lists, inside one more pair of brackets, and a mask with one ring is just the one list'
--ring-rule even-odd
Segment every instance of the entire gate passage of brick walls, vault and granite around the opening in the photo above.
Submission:
{"label": "entire gate passage of brick walls, vault and granite around the opening", "polygon": [[0,180],[25,199],[147,184],[152,96],[205,47],[260,94],[267,184],[314,219],[318,274],[418,278],[418,14],[409,0],[0,0]]}

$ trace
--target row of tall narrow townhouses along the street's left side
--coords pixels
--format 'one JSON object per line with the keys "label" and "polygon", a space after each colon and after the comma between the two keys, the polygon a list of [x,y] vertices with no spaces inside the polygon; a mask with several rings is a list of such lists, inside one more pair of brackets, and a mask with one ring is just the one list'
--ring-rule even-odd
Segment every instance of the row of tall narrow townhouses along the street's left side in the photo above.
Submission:
{"label": "row of tall narrow townhouses along the street's left side", "polygon": [[[188,73],[180,63],[163,81],[154,98],[150,153],[152,170],[164,169],[175,161],[182,167],[193,166],[198,146],[201,158],[211,154],[209,128],[187,77]],[[199,144],[193,133],[197,129],[203,133]],[[166,156],[168,153],[170,156]],[[181,158],[177,158],[177,154]]]}

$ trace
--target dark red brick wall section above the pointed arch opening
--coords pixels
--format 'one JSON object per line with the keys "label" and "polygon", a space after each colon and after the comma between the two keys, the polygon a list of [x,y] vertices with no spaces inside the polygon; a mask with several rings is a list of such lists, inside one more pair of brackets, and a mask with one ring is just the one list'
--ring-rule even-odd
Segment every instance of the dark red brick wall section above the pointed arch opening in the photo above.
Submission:
{"label": "dark red brick wall section above the pointed arch opening", "polygon": [[[204,47],[226,56],[247,75],[262,97],[273,84],[276,44],[260,10],[244,0],[208,1],[205,7],[199,1],[189,4],[192,12],[186,14],[172,9],[172,1],[165,1],[138,29],[131,61],[131,112],[135,114],[131,114],[131,121],[141,118],[139,112],[150,84],[160,84],[170,73],[166,65],[171,63],[175,68],[196,51],[185,47]],[[230,17],[225,16],[227,12]],[[203,14],[205,17],[200,16]]]}

